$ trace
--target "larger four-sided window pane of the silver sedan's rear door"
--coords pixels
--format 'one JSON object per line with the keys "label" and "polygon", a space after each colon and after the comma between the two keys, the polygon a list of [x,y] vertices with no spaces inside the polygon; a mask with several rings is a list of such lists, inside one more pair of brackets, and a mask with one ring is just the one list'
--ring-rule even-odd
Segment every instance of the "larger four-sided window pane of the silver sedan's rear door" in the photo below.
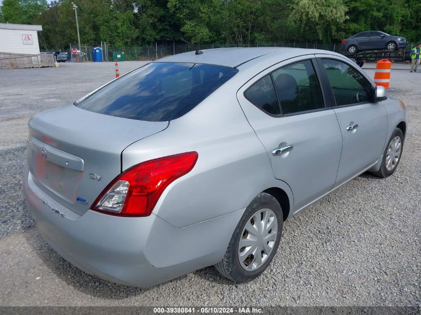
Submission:
{"label": "larger four-sided window pane of the silver sedan's rear door", "polygon": [[282,67],[272,75],[283,114],[324,108],[320,85],[310,60]]}

